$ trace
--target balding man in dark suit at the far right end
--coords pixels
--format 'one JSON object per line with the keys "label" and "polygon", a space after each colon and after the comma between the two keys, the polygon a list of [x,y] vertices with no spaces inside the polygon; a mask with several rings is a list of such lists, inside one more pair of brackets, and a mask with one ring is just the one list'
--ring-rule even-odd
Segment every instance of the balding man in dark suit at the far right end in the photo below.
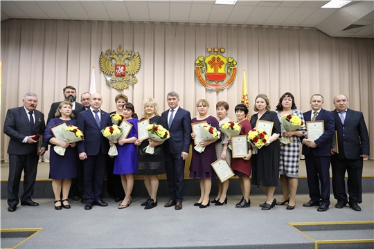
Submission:
{"label": "balding man in dark suit at the far right end", "polygon": [[[331,149],[332,190],[337,199],[335,208],[344,208],[348,203],[353,210],[361,211],[358,203],[362,203],[362,160],[368,158],[370,151],[368,129],[362,112],[348,109],[346,95],[337,95],[334,105],[336,109],[332,113],[335,116],[339,150],[336,154]],[[349,200],[344,181],[346,172]]]}

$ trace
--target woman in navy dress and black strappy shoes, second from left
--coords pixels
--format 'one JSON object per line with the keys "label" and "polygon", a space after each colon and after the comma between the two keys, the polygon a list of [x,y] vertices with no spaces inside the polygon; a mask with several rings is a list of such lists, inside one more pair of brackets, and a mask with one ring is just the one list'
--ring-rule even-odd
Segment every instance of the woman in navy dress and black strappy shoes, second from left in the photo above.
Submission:
{"label": "woman in navy dress and black strappy shoes, second from left", "polygon": [[[53,194],[55,194],[55,210],[62,208],[71,208],[68,201],[68,195],[71,186],[71,178],[77,177],[78,152],[75,142],[68,143],[60,141],[53,136],[51,127],[66,122],[67,125],[75,125],[77,120],[73,120],[72,104],[70,101],[62,101],[55,113],[55,118],[49,120],[44,140],[50,145],[49,150],[49,178],[52,179]],[[64,156],[60,156],[53,149],[55,145],[65,148]],[[62,192],[62,201],[61,201]]]}

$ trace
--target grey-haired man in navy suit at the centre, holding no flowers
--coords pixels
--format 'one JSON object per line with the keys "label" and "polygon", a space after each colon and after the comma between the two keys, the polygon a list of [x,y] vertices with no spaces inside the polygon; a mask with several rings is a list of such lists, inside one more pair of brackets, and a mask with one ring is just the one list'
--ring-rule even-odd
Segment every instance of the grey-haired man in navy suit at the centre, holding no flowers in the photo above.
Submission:
{"label": "grey-haired man in navy suit at the centre, holding no flowers", "polygon": [[179,95],[175,91],[166,98],[170,109],[161,117],[168,123],[170,138],[166,140],[165,168],[170,192],[170,201],[166,208],[175,205],[182,209],[184,163],[190,150],[191,116],[190,112],[179,107]]}

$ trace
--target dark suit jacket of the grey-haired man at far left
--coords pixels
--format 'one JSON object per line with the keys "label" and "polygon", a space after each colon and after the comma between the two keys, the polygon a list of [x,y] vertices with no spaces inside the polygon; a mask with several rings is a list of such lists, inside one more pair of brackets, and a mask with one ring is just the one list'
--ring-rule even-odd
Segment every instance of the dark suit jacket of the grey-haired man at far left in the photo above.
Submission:
{"label": "dark suit jacket of the grey-haired man at far left", "polygon": [[[34,113],[35,123],[34,128],[31,129],[28,113],[26,113],[23,106],[15,107],[7,111],[3,131],[10,137],[8,154],[27,155],[30,152],[37,154],[37,142],[33,144],[22,142],[26,136],[44,134],[46,129],[44,114],[37,110],[35,110]],[[46,142],[43,143],[43,147],[48,147]]]}

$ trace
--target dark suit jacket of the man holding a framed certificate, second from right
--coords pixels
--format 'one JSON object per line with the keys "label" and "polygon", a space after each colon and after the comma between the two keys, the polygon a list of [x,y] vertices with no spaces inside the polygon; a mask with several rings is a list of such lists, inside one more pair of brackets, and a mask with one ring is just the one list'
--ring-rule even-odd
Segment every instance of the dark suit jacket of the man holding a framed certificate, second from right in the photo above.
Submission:
{"label": "dark suit jacket of the man holding a framed certificate, second from right", "polygon": [[[303,113],[303,116],[305,122],[310,121],[312,110]],[[310,148],[306,145],[303,145],[303,155],[308,155],[310,154],[310,152],[312,152],[314,156],[331,156],[331,139],[335,133],[334,116],[331,111],[321,109],[316,120],[323,120],[325,132],[323,132],[323,134],[317,140],[314,140],[314,142],[317,144],[317,147]],[[306,137],[300,138],[301,142],[303,142],[304,138]]]}

